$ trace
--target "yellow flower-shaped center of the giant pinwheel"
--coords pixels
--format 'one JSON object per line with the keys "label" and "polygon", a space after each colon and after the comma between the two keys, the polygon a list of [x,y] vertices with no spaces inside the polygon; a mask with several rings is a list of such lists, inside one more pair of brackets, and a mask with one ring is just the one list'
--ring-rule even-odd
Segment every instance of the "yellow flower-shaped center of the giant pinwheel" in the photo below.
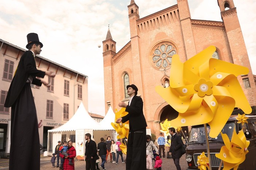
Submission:
{"label": "yellow flower-shaped center of the giant pinwheel", "polygon": [[198,84],[195,84],[194,89],[198,92],[198,96],[204,97],[205,95],[210,96],[213,93],[212,87],[213,83],[211,81],[201,78]]}

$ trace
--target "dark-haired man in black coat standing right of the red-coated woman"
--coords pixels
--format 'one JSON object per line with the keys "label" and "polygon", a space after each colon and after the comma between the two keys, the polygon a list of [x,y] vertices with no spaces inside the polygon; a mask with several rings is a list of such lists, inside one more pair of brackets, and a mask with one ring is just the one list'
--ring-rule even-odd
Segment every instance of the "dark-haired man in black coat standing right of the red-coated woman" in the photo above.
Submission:
{"label": "dark-haired man in black coat standing right of the red-coated woman", "polygon": [[85,134],[85,162],[86,170],[96,170],[96,160],[100,159],[97,155],[97,145],[91,139],[92,135],[90,133]]}

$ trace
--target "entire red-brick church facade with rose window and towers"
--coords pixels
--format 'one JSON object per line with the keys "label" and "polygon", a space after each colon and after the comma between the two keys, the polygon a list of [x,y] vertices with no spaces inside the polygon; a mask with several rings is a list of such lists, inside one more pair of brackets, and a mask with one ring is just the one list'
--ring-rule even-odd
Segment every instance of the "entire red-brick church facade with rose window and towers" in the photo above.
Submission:
{"label": "entire red-brick church facade with rose window and towers", "polygon": [[[134,0],[128,5],[131,40],[116,53],[116,42],[108,30],[103,43],[105,111],[128,103],[126,86],[135,84],[144,102],[147,128],[158,134],[160,122],[178,113],[160,97],[155,86],[168,86],[171,57],[185,62],[210,45],[214,58],[249,68],[238,81],[250,103],[256,106],[256,86],[233,0],[217,0],[222,21],[191,19],[187,0],[140,18]],[[255,110],[254,110],[255,112]],[[184,127],[186,128],[186,127]]]}

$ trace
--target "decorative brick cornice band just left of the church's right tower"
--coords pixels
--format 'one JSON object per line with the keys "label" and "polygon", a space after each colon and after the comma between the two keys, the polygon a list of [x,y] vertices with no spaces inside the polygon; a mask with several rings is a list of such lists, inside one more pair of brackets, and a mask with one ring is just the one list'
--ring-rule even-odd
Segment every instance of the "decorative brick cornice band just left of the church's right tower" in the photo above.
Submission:
{"label": "decorative brick cornice band just left of the church's right tower", "polygon": [[195,29],[225,31],[224,23],[222,23],[222,22],[209,22],[209,21],[191,20],[191,25]]}

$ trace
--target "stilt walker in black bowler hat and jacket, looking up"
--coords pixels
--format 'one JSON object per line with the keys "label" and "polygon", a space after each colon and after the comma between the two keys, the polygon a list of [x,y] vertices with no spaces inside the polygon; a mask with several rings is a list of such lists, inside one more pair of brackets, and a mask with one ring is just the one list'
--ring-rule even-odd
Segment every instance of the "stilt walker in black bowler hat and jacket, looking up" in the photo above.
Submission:
{"label": "stilt walker in black bowler hat and jacket, looking up", "polygon": [[143,114],[143,101],[136,96],[138,88],[132,84],[126,86],[130,101],[119,103],[120,107],[126,108],[128,114],[116,120],[124,123],[129,121],[129,135],[127,141],[126,170],[144,170],[146,166],[146,127],[147,122]]}

